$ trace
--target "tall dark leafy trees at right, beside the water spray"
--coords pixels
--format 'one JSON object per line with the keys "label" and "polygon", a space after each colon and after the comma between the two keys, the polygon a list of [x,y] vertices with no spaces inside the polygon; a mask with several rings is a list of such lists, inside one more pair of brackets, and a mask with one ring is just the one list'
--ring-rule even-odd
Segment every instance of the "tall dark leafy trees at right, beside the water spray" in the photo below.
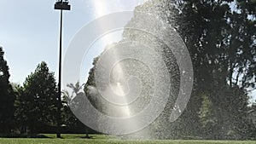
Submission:
{"label": "tall dark leafy trees at right, beside the water spray", "polygon": [[[211,117],[201,117],[202,124],[214,122],[208,123],[214,130],[207,137],[224,139],[232,134],[233,139],[245,138],[247,91],[255,89],[256,80],[256,20],[251,7],[256,2],[180,2],[178,31],[192,57],[195,89],[208,97],[201,101],[199,111],[212,111]],[[230,8],[231,3],[235,9]],[[208,102],[212,107],[206,107]]]}

